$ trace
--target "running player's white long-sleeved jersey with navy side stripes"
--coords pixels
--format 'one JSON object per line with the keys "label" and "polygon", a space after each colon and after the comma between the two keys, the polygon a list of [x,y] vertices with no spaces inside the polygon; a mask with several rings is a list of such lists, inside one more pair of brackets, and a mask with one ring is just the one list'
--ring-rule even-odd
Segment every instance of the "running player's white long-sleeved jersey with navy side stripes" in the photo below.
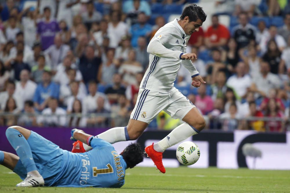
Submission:
{"label": "running player's white long-sleeved jersey with navy side stripes", "polygon": [[178,19],[161,27],[148,44],[149,67],[145,72],[140,88],[168,93],[174,85],[180,64],[191,76],[199,73],[191,60],[181,60],[190,35],[186,35]]}

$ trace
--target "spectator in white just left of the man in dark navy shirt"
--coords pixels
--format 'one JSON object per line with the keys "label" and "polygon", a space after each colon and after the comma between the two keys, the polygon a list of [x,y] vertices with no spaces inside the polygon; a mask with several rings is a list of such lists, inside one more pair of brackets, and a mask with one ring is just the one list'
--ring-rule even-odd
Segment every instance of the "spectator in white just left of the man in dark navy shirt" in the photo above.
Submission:
{"label": "spectator in white just left of the man in dark navy shirt", "polygon": [[82,81],[83,76],[81,71],[79,71],[75,64],[72,63],[72,58],[66,56],[61,64],[57,66],[57,73],[55,74],[54,81],[58,82],[60,85],[68,84],[70,82],[68,78],[68,70],[76,69],[75,81]]}

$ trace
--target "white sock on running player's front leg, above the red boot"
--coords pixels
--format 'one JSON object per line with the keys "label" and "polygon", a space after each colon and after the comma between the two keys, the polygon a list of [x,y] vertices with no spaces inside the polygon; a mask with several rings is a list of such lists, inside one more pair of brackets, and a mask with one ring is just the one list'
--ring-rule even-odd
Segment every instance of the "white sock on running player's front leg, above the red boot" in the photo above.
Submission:
{"label": "white sock on running player's front leg, above the red boot", "polygon": [[174,146],[175,144],[189,138],[192,135],[199,133],[199,130],[190,126],[187,123],[183,123],[173,129],[166,137],[164,137],[157,144],[153,145],[155,151],[164,152],[167,148]]}

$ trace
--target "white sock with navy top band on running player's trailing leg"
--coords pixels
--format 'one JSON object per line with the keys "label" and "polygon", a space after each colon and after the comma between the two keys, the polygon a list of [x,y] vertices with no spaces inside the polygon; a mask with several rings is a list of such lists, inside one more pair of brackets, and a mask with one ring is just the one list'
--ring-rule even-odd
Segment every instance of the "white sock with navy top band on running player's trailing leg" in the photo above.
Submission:
{"label": "white sock with navy top band on running player's trailing leg", "polygon": [[119,141],[128,141],[129,135],[127,127],[115,127],[111,128],[104,133],[97,135],[98,138],[108,141],[110,144],[114,144]]}

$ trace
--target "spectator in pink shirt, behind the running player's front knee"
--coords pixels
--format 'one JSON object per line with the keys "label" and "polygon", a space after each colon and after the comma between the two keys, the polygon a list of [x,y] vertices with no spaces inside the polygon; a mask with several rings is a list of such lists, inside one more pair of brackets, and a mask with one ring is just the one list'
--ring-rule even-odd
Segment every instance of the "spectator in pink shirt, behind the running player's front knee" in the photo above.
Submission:
{"label": "spectator in pink shirt, behind the running player's front knee", "polygon": [[200,109],[203,115],[206,115],[213,110],[213,100],[211,96],[206,95],[206,84],[201,84],[197,92],[195,106]]}

